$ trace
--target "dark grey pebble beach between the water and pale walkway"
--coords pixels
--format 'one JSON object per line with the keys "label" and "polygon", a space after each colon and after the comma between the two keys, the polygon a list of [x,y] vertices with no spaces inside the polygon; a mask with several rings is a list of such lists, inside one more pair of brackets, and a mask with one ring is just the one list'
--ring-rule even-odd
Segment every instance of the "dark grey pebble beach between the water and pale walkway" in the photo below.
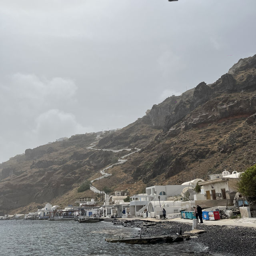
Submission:
{"label": "dark grey pebble beach between the water and pale walkway", "polygon": [[[130,228],[141,228],[140,236],[161,236],[176,234],[182,230],[192,230],[192,224],[181,222],[150,222],[144,220],[113,220],[115,225],[124,225]],[[147,225],[156,223],[153,226]],[[225,256],[256,256],[256,228],[242,226],[208,226],[200,224],[200,229],[206,232],[192,241],[208,247],[211,255],[222,254]],[[191,252],[190,255],[200,255]],[[202,254],[209,255],[209,254]]]}

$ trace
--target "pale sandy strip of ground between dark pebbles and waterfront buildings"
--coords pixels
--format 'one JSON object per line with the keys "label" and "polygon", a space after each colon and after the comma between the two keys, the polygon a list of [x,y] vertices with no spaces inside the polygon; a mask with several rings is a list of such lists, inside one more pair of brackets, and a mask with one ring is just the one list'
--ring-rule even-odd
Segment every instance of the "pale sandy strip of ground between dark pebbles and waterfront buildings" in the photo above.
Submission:
{"label": "pale sandy strip of ground between dark pebbles and waterfront buildings", "polygon": [[[169,220],[158,220],[155,218],[122,218],[122,220],[148,220],[153,222],[183,222],[183,223],[193,223],[193,220],[182,219],[182,218],[173,218]],[[217,226],[243,226],[243,227],[253,227],[256,228],[256,218],[239,218],[239,219],[222,219],[222,220],[204,220],[205,225],[217,225]],[[198,224],[198,228],[200,224]]]}

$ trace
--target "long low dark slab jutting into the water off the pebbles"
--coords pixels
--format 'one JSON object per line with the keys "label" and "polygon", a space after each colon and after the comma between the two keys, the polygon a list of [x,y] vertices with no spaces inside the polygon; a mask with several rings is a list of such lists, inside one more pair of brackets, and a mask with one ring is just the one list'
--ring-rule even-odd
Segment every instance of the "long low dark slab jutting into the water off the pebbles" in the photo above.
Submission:
{"label": "long low dark slab jutting into the water off the pebbles", "polygon": [[106,238],[109,243],[126,243],[126,244],[157,244],[157,243],[174,243],[189,240],[190,235],[165,235],[165,236],[136,236],[136,237],[118,237]]}

